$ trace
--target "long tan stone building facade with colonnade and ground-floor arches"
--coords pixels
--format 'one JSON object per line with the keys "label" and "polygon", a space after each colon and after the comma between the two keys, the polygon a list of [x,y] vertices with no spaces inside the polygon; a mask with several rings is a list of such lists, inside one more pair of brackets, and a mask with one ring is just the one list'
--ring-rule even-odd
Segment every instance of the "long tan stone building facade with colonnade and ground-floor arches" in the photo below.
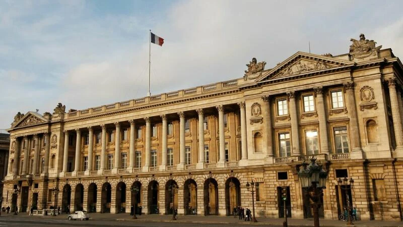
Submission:
{"label": "long tan stone building facade with colonnade and ground-floor arches", "polygon": [[[352,39],[349,53],[297,52],[243,78],[83,110],[18,113],[6,205],[63,211],[257,216],[311,208],[297,171],[314,156],[328,172],[320,216],[349,203],[361,219],[401,219],[403,66],[391,49]],[[347,49],[347,48],[346,48]],[[339,178],[353,178],[342,189]],[[12,193],[17,189],[18,193]],[[57,189],[57,190],[55,190]]]}

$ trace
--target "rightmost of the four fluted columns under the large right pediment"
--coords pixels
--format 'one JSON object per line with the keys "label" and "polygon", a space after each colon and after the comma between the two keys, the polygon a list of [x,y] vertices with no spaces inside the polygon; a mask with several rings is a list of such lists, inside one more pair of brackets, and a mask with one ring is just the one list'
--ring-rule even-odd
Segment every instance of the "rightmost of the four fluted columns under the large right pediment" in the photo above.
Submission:
{"label": "rightmost of the four fluted columns under the large right pediment", "polygon": [[[346,107],[350,113],[350,139],[352,146],[352,159],[362,159],[362,148],[360,143],[360,130],[358,128],[356,101],[354,97],[354,82],[347,82],[343,84],[346,90]],[[393,105],[392,105],[393,106]],[[393,107],[392,107],[393,108]],[[397,102],[396,102],[397,108]],[[397,109],[398,111],[398,109]],[[401,127],[400,127],[401,130]],[[401,134],[400,134],[401,135]]]}

